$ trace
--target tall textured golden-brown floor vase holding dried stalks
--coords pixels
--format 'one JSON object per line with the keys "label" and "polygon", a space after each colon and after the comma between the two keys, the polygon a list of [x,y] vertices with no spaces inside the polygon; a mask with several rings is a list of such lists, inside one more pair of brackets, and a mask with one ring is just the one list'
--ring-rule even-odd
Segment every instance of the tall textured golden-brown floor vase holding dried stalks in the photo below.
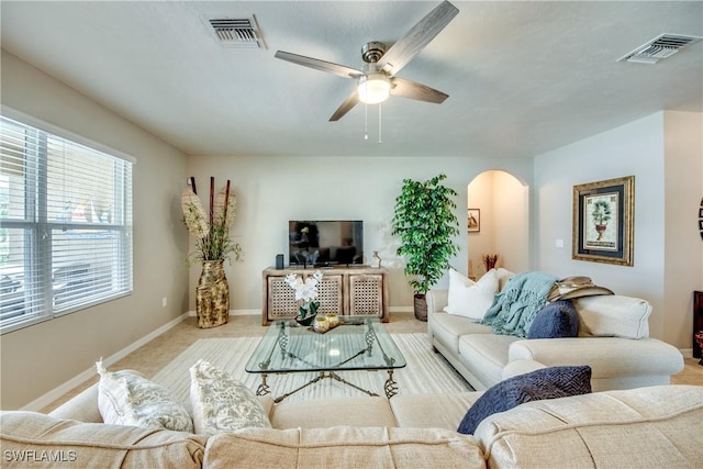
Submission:
{"label": "tall textured golden-brown floor vase holding dried stalks", "polygon": [[230,316],[230,286],[222,260],[205,260],[196,288],[198,327],[226,324]]}

